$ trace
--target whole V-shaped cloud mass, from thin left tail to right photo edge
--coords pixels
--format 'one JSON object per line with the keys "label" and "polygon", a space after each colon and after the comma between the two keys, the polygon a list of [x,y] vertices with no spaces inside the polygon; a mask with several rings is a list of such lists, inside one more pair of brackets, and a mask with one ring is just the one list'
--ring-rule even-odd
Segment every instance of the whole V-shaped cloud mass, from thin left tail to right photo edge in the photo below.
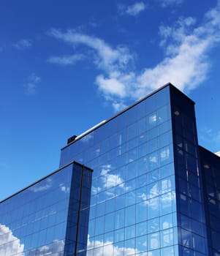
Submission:
{"label": "whole V-shaped cloud mass, from thin left tail to right photo edge", "polygon": [[210,70],[208,53],[220,42],[220,1],[205,14],[203,23],[194,18],[180,18],[173,26],[159,28],[159,46],[164,59],[155,67],[137,72],[134,54],[124,46],[112,47],[98,37],[74,30],[52,29],[50,36],[70,45],[86,45],[94,52],[94,64],[101,71],[95,83],[105,99],[119,110],[126,99],[140,99],[164,83],[173,83],[189,92],[202,83]]}

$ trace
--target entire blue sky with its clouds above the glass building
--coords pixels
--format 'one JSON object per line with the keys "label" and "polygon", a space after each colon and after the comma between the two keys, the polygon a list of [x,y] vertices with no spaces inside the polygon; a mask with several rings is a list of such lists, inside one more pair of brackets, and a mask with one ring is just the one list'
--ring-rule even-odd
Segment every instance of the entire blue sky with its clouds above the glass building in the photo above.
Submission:
{"label": "entire blue sky with its clouds above the glass building", "polygon": [[0,3],[0,200],[58,168],[60,148],[171,82],[220,151],[220,1]]}

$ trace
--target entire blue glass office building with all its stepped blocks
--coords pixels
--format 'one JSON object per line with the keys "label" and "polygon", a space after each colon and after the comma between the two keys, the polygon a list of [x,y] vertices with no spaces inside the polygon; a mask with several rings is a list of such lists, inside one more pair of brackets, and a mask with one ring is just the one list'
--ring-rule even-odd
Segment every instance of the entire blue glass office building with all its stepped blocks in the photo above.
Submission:
{"label": "entire blue glass office building with all its stepped blocks", "polygon": [[1,201],[0,255],[219,256],[219,169],[169,83],[69,138],[55,173]]}

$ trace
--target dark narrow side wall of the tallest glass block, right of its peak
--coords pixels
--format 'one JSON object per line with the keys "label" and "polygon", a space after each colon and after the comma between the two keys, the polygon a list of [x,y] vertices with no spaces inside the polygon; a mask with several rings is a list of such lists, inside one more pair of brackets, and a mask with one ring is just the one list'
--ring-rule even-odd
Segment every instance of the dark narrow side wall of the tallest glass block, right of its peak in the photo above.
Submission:
{"label": "dark narrow side wall of the tallest glass block, right of its peak", "polygon": [[208,249],[194,102],[173,86],[170,90],[179,253],[205,256]]}

